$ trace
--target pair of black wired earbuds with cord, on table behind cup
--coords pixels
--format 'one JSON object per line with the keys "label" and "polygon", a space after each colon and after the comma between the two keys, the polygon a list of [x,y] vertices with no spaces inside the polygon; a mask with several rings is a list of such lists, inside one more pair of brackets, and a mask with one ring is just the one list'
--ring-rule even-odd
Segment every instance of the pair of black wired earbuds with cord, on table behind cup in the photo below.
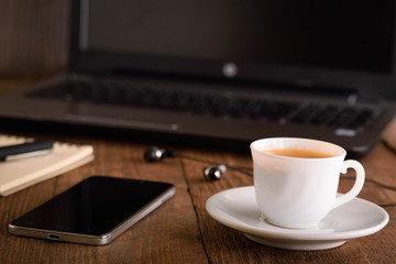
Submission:
{"label": "pair of black wired earbuds with cord, on table behind cup", "polygon": [[[152,148],[144,152],[144,160],[148,163],[161,162],[164,157],[176,157],[176,156],[196,161],[196,162],[200,162],[200,163],[213,164],[212,162],[209,162],[206,160],[201,160],[198,157],[190,157],[190,156],[186,156],[186,155],[179,155],[179,154],[176,154],[176,152],[174,152],[174,151],[161,148],[157,146],[153,146]],[[206,180],[218,180],[218,179],[222,178],[222,176],[224,175],[227,169],[234,169],[234,170],[238,170],[245,175],[253,176],[252,168],[250,168],[250,167],[228,166],[227,164],[220,164],[217,166],[208,166],[208,167],[204,168],[204,177]]]}

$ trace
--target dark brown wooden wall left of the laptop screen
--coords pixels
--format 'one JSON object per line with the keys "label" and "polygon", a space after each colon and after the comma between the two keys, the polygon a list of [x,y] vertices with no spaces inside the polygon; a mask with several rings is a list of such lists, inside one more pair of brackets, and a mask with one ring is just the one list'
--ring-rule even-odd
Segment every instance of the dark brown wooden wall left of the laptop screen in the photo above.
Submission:
{"label": "dark brown wooden wall left of the laptop screen", "polygon": [[0,78],[29,78],[67,67],[68,0],[0,0]]}

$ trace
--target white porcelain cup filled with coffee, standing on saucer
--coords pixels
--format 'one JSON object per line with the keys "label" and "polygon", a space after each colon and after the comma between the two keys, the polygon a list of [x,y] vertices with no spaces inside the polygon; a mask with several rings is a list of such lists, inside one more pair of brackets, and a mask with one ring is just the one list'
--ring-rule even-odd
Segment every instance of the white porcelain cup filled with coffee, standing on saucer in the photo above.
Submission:
{"label": "white porcelain cup filled with coffee, standing on saucer", "polygon": [[[329,157],[284,156],[274,150],[316,152]],[[262,217],[270,223],[290,229],[318,227],[330,210],[352,200],[364,184],[364,168],[353,160],[344,161],[341,146],[323,141],[272,138],[251,144],[254,190]],[[337,196],[340,173],[356,172],[350,191]]]}

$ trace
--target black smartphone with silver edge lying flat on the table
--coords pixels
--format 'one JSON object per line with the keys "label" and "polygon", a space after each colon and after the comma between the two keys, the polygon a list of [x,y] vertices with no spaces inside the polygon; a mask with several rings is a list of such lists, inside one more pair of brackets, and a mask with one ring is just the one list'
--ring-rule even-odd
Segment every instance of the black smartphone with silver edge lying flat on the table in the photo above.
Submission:
{"label": "black smartphone with silver edge lying flat on the table", "polygon": [[103,245],[174,195],[168,183],[91,176],[11,221],[9,232]]}

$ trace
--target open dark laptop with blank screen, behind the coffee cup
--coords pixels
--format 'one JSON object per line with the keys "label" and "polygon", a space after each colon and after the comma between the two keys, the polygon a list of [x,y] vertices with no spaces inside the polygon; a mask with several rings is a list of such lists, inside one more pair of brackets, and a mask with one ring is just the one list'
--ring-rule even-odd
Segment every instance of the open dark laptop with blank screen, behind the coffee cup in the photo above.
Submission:
{"label": "open dark laptop with blank screen, behind the coffee cup", "polygon": [[69,70],[0,98],[2,124],[365,155],[395,114],[395,1],[76,0]]}

